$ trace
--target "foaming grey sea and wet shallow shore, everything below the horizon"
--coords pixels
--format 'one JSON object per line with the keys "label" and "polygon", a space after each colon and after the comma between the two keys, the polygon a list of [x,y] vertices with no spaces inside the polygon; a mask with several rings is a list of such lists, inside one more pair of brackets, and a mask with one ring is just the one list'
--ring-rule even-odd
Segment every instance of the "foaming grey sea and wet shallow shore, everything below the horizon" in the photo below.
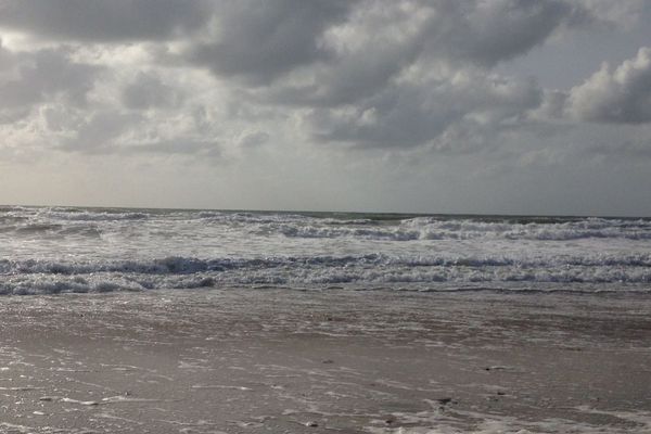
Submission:
{"label": "foaming grey sea and wet shallow shore, everything below the horizon", "polygon": [[651,218],[0,207],[0,433],[651,433]]}

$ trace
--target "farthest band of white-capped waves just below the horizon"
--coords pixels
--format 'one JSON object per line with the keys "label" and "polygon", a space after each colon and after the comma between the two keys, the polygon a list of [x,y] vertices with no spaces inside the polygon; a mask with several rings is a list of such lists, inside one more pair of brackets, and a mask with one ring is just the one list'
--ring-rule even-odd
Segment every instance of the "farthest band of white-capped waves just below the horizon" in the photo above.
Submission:
{"label": "farthest band of white-capped waves just below the horizon", "polygon": [[[0,230],[17,234],[56,232],[75,225],[115,229],[114,222],[166,228],[240,231],[248,237],[284,239],[419,242],[442,240],[573,241],[588,239],[651,240],[651,220],[550,217],[408,217],[394,215],[297,214],[210,210],[132,210],[118,208],[2,208]],[[73,229],[74,231],[74,229]]]}

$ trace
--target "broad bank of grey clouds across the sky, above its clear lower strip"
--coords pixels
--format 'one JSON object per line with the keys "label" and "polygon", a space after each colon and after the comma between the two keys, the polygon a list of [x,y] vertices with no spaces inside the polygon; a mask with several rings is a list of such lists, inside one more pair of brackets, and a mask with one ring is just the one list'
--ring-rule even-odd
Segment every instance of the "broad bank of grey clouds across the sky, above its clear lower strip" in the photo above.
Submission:
{"label": "broad bank of grey clouds across the sky, above its clear lower strip", "polygon": [[11,46],[24,51],[0,46],[0,125],[27,118],[24,137],[79,154],[245,155],[285,132],[470,154],[562,122],[648,122],[648,50],[571,91],[496,73],[565,27],[638,12],[591,0],[0,0],[0,28],[28,36]]}

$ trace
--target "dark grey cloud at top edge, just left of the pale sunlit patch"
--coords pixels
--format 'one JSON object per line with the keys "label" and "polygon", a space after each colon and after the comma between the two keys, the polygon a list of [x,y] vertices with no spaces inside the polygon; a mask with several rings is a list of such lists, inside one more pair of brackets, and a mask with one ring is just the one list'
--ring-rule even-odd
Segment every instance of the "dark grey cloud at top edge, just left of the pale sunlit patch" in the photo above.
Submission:
{"label": "dark grey cloud at top edge, just left of the pale sunlit patch", "polygon": [[352,0],[238,0],[217,3],[218,38],[196,44],[189,59],[220,76],[268,84],[331,55],[320,37],[344,20]]}

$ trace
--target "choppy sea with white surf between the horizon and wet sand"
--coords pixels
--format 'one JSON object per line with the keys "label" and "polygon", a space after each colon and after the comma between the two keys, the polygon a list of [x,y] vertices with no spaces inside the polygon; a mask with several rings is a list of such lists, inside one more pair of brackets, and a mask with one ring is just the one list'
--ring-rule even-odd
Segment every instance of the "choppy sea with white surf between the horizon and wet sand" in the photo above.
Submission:
{"label": "choppy sea with white surf between the horizon and wet sand", "polygon": [[0,207],[0,294],[650,292],[651,219]]}

